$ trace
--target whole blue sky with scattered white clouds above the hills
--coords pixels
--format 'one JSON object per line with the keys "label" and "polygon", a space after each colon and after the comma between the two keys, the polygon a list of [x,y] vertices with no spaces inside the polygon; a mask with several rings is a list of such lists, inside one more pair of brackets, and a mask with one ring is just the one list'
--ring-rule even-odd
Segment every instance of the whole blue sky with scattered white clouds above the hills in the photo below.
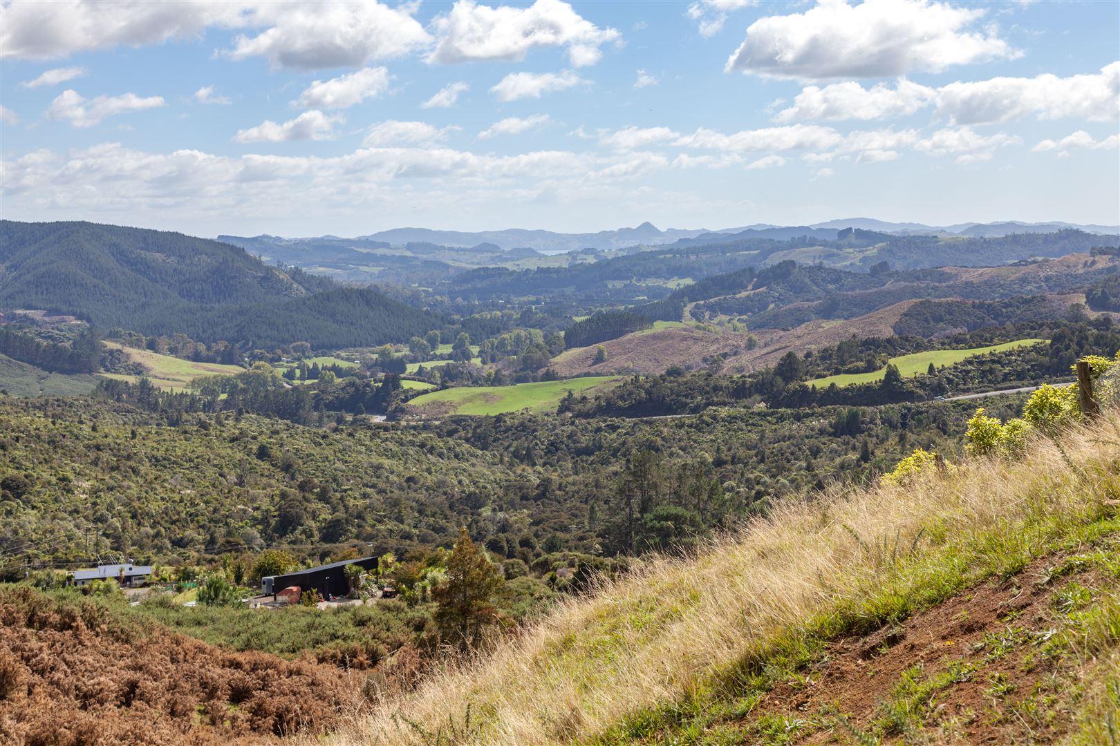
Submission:
{"label": "whole blue sky with scattered white clouds above the hills", "polygon": [[1120,223],[1120,2],[3,2],[0,215]]}

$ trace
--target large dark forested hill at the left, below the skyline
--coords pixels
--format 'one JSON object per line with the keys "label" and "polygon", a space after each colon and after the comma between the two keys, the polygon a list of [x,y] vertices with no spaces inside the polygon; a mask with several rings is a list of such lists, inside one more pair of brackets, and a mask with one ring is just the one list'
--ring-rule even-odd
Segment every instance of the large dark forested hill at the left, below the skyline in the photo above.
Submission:
{"label": "large dark forested hill at the left, below the skyline", "polygon": [[380,344],[438,324],[377,291],[271,267],[230,244],[94,223],[3,220],[0,309],[19,308],[254,347]]}

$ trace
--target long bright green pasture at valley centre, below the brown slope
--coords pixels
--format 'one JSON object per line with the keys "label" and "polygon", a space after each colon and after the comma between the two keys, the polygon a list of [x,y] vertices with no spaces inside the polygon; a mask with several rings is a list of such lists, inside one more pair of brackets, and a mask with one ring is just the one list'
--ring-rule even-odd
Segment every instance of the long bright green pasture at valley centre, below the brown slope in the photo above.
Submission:
{"label": "long bright green pasture at valley centre, below the brown slope", "polygon": [[556,409],[568,391],[587,393],[618,380],[615,376],[595,376],[516,386],[445,388],[418,396],[408,406],[442,415],[500,415],[521,409],[548,412]]}

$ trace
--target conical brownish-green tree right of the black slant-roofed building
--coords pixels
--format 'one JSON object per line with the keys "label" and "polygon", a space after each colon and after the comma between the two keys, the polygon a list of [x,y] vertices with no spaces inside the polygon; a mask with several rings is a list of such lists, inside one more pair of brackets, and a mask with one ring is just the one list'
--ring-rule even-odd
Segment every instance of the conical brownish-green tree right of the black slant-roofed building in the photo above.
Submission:
{"label": "conical brownish-green tree right of the black slant-roofed building", "polygon": [[444,639],[468,650],[478,644],[485,626],[497,621],[493,598],[505,583],[502,570],[479,551],[464,527],[447,559],[447,574],[432,596],[436,623]]}

